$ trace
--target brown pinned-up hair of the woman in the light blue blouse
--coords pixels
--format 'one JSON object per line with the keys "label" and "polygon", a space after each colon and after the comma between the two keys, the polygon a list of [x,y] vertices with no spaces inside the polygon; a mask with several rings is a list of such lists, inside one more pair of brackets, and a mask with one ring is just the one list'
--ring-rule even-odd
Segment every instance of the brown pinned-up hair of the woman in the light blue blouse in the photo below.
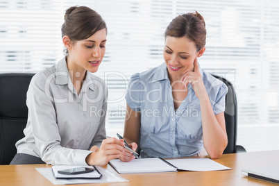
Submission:
{"label": "brown pinned-up hair of the woman in the light blue blouse", "polygon": [[174,18],[164,32],[164,37],[187,37],[196,44],[196,50],[200,51],[205,46],[206,29],[205,21],[197,11],[178,15]]}

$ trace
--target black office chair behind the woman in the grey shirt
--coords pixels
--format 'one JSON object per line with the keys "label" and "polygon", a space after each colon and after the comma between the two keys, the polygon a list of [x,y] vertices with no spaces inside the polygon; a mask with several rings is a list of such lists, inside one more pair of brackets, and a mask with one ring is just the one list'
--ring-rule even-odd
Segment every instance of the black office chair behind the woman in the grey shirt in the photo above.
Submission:
{"label": "black office chair behind the woman in the grey shirt", "polygon": [[26,92],[34,74],[0,74],[0,164],[10,164],[15,143],[24,137],[28,109]]}

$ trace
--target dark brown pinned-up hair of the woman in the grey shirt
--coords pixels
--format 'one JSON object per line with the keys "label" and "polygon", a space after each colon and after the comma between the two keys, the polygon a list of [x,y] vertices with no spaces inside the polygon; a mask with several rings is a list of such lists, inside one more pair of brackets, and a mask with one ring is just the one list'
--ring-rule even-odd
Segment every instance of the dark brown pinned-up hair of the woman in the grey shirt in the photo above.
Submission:
{"label": "dark brown pinned-up hair of the woman in the grey shirt", "polygon": [[85,40],[103,28],[108,30],[101,15],[86,6],[71,6],[66,10],[64,19],[62,37],[67,35],[72,42]]}

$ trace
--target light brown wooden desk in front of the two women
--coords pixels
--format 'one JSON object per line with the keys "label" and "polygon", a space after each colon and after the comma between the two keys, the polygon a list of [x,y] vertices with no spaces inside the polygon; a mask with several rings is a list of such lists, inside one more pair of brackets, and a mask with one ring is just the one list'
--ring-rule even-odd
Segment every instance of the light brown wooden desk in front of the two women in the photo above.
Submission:
{"label": "light brown wooden desk in front of the two women", "polygon": [[[128,183],[107,183],[102,185],[275,185],[263,180],[256,180],[242,176],[241,169],[269,165],[279,166],[278,151],[261,151],[253,153],[224,154],[216,162],[233,168],[226,171],[178,171],[176,173],[155,174],[121,174],[121,177],[130,180]],[[205,158],[205,157],[203,157]],[[0,165],[0,185],[30,186],[53,185],[44,178],[35,168],[51,167],[47,164],[28,165]],[[106,167],[111,170],[109,165]],[[83,186],[96,185],[84,184]]]}

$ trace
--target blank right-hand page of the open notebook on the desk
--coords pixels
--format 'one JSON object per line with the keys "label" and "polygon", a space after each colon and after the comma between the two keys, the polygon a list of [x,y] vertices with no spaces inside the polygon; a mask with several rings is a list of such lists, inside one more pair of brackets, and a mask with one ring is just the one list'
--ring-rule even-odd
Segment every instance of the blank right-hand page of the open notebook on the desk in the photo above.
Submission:
{"label": "blank right-hand page of the open notebook on the desk", "polygon": [[209,158],[185,158],[166,161],[184,171],[221,171],[231,169]]}

